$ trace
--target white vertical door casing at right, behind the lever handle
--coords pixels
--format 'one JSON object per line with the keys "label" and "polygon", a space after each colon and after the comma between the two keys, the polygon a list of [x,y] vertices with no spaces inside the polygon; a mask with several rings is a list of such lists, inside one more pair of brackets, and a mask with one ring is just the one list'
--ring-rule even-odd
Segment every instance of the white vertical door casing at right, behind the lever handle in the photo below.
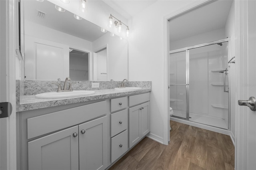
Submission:
{"label": "white vertical door casing at right, behind the lever handle", "polygon": [[[248,82],[248,0],[235,0],[235,30],[236,30],[236,101],[247,99],[248,89],[242,87],[242,82]],[[248,108],[236,105],[236,136],[235,136],[235,169],[247,169],[247,122]]]}

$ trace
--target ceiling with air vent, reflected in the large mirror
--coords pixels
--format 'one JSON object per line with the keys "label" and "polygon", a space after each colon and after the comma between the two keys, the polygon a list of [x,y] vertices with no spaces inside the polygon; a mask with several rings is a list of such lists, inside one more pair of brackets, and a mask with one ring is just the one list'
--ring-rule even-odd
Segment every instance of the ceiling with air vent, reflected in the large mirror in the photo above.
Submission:
{"label": "ceiling with air vent, reflected in the large mirror", "polygon": [[[45,13],[44,18],[38,16],[38,11]],[[55,5],[47,0],[44,2],[24,0],[24,18],[31,22],[35,22],[36,24],[64,32],[90,42],[93,42],[106,34],[100,31],[99,26],[96,26],[87,20],[76,20],[74,18],[74,14],[67,10],[65,12],[57,11],[55,9]]]}

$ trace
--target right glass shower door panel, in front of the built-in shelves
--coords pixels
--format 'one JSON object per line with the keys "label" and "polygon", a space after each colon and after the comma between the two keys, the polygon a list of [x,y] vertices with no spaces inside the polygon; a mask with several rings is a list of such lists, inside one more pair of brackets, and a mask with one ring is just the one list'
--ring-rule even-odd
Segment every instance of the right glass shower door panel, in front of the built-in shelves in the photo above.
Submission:
{"label": "right glass shower door panel, in front of the built-in shelves", "polygon": [[228,129],[228,42],[189,50],[189,120]]}

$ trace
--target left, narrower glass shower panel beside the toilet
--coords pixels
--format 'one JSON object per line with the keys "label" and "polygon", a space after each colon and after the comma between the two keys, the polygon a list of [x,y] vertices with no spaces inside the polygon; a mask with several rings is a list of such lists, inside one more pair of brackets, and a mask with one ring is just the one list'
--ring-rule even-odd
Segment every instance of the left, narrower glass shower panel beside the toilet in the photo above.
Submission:
{"label": "left, narrower glass shower panel beside the toilet", "polygon": [[171,53],[169,59],[170,107],[174,112],[173,116],[182,119],[188,119],[186,113],[188,102],[186,53],[187,51]]}

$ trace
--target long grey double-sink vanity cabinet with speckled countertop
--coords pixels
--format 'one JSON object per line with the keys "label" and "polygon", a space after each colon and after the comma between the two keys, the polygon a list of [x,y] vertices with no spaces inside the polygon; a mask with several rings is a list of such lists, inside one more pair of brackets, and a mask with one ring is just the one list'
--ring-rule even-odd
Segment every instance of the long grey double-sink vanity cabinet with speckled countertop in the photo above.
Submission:
{"label": "long grey double-sink vanity cabinet with speckled countertop", "polygon": [[102,89],[17,105],[17,169],[109,168],[150,132],[150,91]]}

